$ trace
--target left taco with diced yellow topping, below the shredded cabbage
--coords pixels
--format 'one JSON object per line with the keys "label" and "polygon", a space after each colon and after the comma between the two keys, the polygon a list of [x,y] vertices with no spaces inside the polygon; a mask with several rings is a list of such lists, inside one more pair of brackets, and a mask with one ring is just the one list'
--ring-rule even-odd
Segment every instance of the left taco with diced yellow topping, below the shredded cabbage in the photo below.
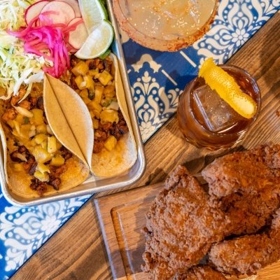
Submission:
{"label": "left taco with diced yellow topping, below the shredded cabbage", "polygon": [[[57,137],[60,132],[52,130],[57,125],[49,123],[45,114],[43,84],[34,83],[26,98],[25,92],[21,87],[18,96],[0,103],[8,187],[21,197],[38,197],[78,186],[90,173],[85,158],[63,146]],[[62,113],[57,111],[56,118],[71,139],[71,130],[62,120]]]}

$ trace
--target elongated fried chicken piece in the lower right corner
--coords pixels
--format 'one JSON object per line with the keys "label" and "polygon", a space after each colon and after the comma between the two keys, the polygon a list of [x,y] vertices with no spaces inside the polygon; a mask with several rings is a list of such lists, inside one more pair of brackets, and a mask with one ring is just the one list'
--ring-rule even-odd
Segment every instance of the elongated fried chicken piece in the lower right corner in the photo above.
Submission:
{"label": "elongated fried chicken piece in the lower right corner", "polygon": [[212,246],[209,260],[218,271],[231,275],[255,274],[280,258],[280,209],[268,232],[245,235]]}

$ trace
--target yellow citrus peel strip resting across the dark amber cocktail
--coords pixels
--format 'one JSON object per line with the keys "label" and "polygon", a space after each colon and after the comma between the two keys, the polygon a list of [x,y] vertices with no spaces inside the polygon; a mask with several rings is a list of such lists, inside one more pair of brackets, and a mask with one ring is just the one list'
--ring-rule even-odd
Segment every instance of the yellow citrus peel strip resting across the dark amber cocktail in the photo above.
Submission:
{"label": "yellow citrus peel strip resting across the dark amber cocktail", "polygon": [[220,95],[232,109],[244,118],[252,118],[257,111],[257,104],[248,94],[242,92],[235,78],[230,76],[213,58],[207,59],[200,68],[198,76],[204,78],[205,83]]}

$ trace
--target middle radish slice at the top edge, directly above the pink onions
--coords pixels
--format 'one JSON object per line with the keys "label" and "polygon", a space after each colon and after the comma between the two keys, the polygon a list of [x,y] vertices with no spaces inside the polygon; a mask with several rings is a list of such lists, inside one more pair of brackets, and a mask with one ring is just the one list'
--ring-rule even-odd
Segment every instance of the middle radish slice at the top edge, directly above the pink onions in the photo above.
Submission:
{"label": "middle radish slice at the top edge, directly above the pink onions", "polygon": [[73,8],[63,1],[51,1],[45,4],[41,10],[41,14],[45,12],[52,12],[47,15],[48,18],[52,20],[52,25],[56,25],[57,23],[68,25],[68,23],[75,18]]}

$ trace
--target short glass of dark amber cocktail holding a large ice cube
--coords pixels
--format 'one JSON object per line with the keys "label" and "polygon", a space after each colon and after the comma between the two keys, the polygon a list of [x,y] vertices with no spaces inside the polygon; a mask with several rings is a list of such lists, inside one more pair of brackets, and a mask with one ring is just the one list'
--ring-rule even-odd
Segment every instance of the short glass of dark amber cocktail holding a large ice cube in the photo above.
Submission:
{"label": "short glass of dark amber cocktail holding a large ice cube", "polygon": [[244,118],[211,90],[204,78],[195,78],[179,97],[177,118],[186,140],[198,148],[218,150],[238,144],[260,111],[260,90],[255,80],[237,66],[223,65],[221,68],[255,101],[257,109],[252,118]]}

